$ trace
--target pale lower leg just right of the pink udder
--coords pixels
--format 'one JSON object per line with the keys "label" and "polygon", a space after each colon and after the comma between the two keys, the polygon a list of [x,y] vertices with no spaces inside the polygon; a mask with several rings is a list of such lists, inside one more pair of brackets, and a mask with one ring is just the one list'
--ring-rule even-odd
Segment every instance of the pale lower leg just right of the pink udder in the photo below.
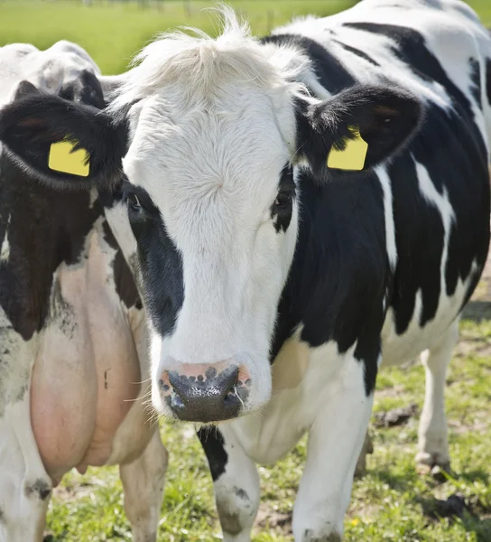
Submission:
{"label": "pale lower leg just right of the pink udder", "polygon": [[144,453],[133,463],[119,467],[134,542],[157,540],[167,461],[167,450],[156,427]]}

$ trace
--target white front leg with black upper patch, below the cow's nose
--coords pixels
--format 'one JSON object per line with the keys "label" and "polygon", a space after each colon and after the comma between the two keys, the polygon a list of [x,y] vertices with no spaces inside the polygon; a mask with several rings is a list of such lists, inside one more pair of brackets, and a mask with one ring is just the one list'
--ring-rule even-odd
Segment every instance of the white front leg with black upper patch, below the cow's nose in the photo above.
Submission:
{"label": "white front leg with black upper patch, below the cow's nose", "polygon": [[259,474],[255,463],[223,429],[201,429],[199,440],[208,458],[224,542],[250,542],[259,508]]}

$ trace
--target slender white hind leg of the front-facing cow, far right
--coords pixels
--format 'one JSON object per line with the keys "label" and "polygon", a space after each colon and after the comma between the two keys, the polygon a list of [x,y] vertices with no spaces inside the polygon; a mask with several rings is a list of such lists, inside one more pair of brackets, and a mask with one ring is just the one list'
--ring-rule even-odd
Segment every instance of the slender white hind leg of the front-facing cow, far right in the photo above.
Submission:
{"label": "slender white hind leg of the front-facing cow, far right", "polygon": [[426,371],[426,391],[418,432],[416,463],[419,472],[450,472],[447,418],[445,416],[445,380],[452,350],[459,339],[459,320],[452,323],[440,343],[422,353]]}

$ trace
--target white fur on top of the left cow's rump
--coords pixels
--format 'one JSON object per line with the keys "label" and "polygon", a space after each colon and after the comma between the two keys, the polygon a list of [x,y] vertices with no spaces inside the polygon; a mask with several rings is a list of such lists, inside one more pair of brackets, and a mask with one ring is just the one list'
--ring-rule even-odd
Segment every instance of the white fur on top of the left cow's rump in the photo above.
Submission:
{"label": "white fur on top of the left cow's rump", "polygon": [[56,42],[46,51],[39,51],[27,43],[0,47],[0,106],[12,99],[22,80],[57,94],[63,83],[77,79],[82,70],[100,74],[88,52],[76,43]]}

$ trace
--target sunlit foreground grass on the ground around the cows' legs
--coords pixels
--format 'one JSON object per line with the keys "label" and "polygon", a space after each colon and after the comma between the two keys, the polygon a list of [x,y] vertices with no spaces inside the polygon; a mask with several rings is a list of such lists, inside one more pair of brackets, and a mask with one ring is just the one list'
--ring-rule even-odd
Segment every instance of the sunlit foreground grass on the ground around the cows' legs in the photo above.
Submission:
{"label": "sunlit foreground grass on the ground around the cows' legs", "polygon": [[[377,383],[375,412],[416,403],[422,407],[423,369],[386,369]],[[457,476],[439,484],[415,472],[417,418],[406,425],[371,429],[375,452],[366,476],[355,482],[346,519],[347,542],[491,541],[491,321],[461,323],[449,369],[447,406],[452,467]],[[208,466],[191,425],[163,425],[170,465],[159,540],[219,538]],[[260,468],[262,504],[255,542],[292,542],[290,514],[305,459],[305,438],[273,468]],[[431,519],[433,500],[460,491],[473,515]],[[131,540],[116,468],[69,473],[55,492],[48,516],[52,542]]]}

